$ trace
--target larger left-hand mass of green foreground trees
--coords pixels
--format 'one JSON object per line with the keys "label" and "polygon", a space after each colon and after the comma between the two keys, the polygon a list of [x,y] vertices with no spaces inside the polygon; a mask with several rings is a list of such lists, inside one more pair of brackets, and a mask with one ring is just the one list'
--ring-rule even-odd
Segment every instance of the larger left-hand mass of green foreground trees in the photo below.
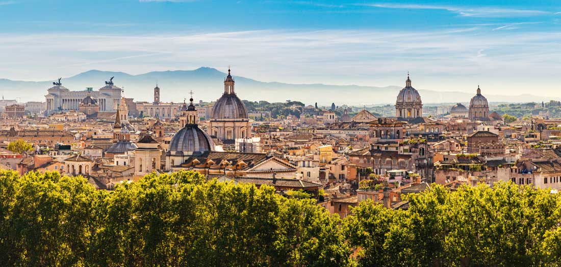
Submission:
{"label": "larger left-hand mass of green foreground trees", "polygon": [[2,266],[344,266],[337,216],[269,186],[148,175],[98,191],[0,171]]}

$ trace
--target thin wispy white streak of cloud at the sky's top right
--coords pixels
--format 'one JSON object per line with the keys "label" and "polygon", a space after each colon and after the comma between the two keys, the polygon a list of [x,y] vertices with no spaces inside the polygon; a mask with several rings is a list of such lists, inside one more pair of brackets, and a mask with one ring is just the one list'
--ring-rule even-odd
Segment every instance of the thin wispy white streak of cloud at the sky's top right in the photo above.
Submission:
{"label": "thin wispy white streak of cloud at the sky's top right", "polygon": [[540,10],[516,10],[510,8],[494,8],[494,7],[454,7],[454,6],[437,6],[430,4],[394,4],[394,3],[373,3],[364,4],[365,6],[379,8],[400,8],[400,9],[417,9],[417,10],[447,10],[457,13],[465,17],[525,17],[551,14],[551,12]]}

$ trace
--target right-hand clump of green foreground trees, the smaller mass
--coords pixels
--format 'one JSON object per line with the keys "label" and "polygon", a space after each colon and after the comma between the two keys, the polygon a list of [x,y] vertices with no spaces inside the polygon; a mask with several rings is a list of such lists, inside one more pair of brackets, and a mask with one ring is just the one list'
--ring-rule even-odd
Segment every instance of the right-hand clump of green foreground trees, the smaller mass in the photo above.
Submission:
{"label": "right-hand clump of green foreground trees, the smaller mass", "polygon": [[558,266],[561,199],[500,182],[406,196],[408,210],[371,202],[344,221],[362,266]]}

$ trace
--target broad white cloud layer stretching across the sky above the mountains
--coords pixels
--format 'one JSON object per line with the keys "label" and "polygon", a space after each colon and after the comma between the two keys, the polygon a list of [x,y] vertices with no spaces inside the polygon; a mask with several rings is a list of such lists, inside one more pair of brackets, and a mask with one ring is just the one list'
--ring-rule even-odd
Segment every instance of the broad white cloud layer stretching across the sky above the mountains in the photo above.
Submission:
{"label": "broad white cloud layer stretching across the sky above the mountains", "polygon": [[[478,27],[58,34],[56,41],[48,34],[0,34],[0,70],[6,78],[45,80],[89,69],[138,74],[200,66],[226,69],[232,64],[236,75],[261,81],[373,86],[399,85],[411,71],[420,88],[472,90],[477,80],[495,87],[495,93],[522,93],[557,75],[559,43],[558,32],[491,34],[489,28]],[[450,90],[450,84],[457,88]],[[214,96],[203,93],[204,97]]]}

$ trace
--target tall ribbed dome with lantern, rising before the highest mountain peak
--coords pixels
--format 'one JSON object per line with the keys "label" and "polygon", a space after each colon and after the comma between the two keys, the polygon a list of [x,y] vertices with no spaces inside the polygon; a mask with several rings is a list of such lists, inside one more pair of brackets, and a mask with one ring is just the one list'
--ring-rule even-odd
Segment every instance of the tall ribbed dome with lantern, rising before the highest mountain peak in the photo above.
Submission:
{"label": "tall ribbed dome with lantern, rising before the highest mountain peak", "polygon": [[211,119],[248,119],[247,108],[234,92],[234,78],[228,69],[224,79],[224,93],[212,109]]}

